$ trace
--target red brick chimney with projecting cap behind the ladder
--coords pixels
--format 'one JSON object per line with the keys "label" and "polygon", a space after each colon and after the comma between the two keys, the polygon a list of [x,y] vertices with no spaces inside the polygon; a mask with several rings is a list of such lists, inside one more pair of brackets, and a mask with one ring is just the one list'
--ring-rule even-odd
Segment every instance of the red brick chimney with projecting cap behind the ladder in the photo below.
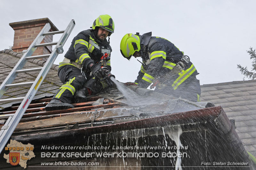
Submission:
{"label": "red brick chimney with projecting cap behind the ladder", "polygon": [[[56,26],[52,24],[49,18],[33,19],[28,21],[13,22],[9,25],[14,30],[14,41],[12,51],[22,52],[24,49],[28,49],[31,43],[35,40],[38,33],[43,29],[46,23],[50,23],[51,31],[59,31]],[[47,35],[41,43],[52,42],[53,35]],[[51,54],[52,46],[37,47],[33,55]]]}

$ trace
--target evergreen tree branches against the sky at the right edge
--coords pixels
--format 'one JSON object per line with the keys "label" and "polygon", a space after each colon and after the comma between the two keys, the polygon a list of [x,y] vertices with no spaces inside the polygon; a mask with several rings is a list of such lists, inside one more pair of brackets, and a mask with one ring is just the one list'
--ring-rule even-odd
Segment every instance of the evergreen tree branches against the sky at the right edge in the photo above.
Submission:
{"label": "evergreen tree branches against the sky at the right edge", "polygon": [[252,70],[249,71],[246,67],[242,67],[240,64],[237,64],[237,68],[241,71],[241,73],[244,75],[244,78],[247,77],[249,79],[256,79],[256,53],[255,49],[253,50],[252,47],[250,47],[250,50],[247,51],[250,55],[250,59],[252,59]]}

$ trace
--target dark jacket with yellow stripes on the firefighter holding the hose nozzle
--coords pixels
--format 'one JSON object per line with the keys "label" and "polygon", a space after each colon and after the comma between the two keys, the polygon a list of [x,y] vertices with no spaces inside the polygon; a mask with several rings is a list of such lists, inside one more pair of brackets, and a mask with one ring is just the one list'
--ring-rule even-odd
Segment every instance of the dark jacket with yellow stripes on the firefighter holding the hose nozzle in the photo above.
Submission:
{"label": "dark jacket with yellow stripes on the firefighter holding the hose nozzle", "polygon": [[[65,54],[65,58],[70,59],[76,64],[82,64],[85,73],[91,72],[88,68],[90,63],[97,63],[104,53],[110,53],[112,51],[109,42],[105,39],[104,41],[99,41],[97,37],[97,31],[88,29],[78,33],[71,42],[68,52]],[[110,60],[106,61],[108,70],[111,71]],[[60,66],[73,65],[72,63],[60,63]]]}

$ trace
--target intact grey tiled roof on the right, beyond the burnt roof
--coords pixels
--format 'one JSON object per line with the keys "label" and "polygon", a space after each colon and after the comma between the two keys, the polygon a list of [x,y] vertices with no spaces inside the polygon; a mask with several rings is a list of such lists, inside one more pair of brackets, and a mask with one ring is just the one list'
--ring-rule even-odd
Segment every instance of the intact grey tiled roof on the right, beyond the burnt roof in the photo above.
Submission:
{"label": "intact grey tiled roof on the right, beyond the burnt roof", "polygon": [[247,151],[256,156],[256,80],[233,81],[201,86],[201,101],[221,105]]}

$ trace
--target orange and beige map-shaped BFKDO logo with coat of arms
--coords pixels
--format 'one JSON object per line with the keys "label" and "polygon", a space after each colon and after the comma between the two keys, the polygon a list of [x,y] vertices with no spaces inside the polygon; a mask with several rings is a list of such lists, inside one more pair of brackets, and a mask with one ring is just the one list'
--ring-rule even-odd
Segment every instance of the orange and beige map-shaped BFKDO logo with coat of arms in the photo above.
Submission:
{"label": "orange and beige map-shaped BFKDO logo with coat of arms", "polygon": [[9,151],[9,154],[4,153],[4,159],[6,163],[11,165],[20,165],[23,168],[27,167],[27,161],[34,158],[34,145],[32,144],[22,144],[16,140],[11,140],[10,144],[4,148],[5,151]]}

